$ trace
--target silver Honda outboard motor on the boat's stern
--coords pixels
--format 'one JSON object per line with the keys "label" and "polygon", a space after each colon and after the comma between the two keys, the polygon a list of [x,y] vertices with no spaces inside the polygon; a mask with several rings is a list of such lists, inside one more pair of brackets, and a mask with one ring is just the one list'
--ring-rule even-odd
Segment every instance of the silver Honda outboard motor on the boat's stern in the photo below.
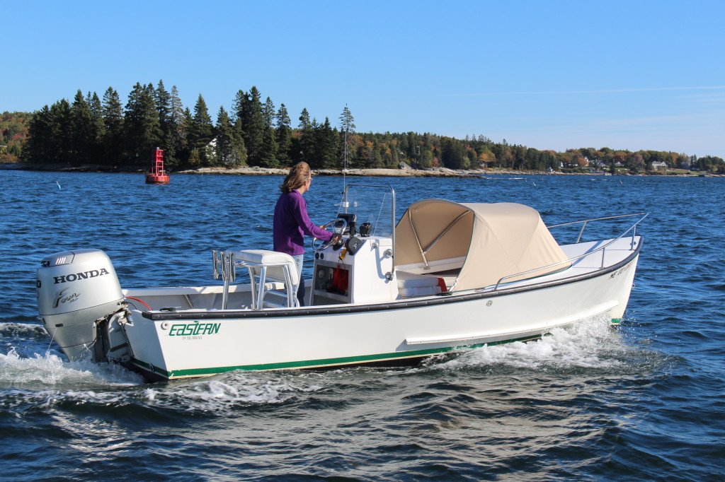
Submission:
{"label": "silver Honda outboard motor on the boat's stern", "polygon": [[90,351],[94,361],[101,361],[107,347],[99,322],[125,306],[106,253],[86,249],[46,256],[38,268],[36,287],[43,326],[68,359],[77,360]]}

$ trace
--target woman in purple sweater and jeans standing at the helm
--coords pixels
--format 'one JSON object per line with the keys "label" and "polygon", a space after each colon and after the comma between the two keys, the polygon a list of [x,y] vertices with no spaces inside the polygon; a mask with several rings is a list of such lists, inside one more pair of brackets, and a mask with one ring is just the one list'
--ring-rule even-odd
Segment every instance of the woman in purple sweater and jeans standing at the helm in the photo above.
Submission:
{"label": "woman in purple sweater and jeans standing at the helm", "polygon": [[315,226],[307,216],[307,203],[302,195],[310,190],[312,172],[306,162],[299,162],[292,166],[289,174],[280,186],[282,194],[274,208],[273,240],[274,250],[286,253],[297,263],[299,285],[293,287],[297,292],[299,305],[305,305],[305,282],[302,280],[302,261],[305,259],[305,234],[323,241],[329,241],[339,234],[332,234],[325,229]]}

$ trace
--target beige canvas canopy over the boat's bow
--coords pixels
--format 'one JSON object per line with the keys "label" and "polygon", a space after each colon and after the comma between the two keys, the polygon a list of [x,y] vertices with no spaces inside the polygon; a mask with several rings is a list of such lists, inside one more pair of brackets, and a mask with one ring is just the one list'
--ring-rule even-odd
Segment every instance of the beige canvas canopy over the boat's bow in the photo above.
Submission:
{"label": "beige canvas canopy over the boat's bow", "polygon": [[[465,259],[452,289],[496,284],[502,277],[566,261],[539,213],[515,203],[413,203],[395,227],[395,265]],[[435,263],[434,263],[435,264]],[[569,263],[505,281],[542,276]]]}

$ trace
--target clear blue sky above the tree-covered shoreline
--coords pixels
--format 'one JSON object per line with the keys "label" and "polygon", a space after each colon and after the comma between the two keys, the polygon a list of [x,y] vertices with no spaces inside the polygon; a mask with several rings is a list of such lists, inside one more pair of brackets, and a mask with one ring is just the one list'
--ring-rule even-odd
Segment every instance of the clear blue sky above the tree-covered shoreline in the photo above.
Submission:
{"label": "clear blue sky above the tree-covered shoreline", "polygon": [[0,111],[176,85],[360,132],[725,157],[725,1],[0,0]]}

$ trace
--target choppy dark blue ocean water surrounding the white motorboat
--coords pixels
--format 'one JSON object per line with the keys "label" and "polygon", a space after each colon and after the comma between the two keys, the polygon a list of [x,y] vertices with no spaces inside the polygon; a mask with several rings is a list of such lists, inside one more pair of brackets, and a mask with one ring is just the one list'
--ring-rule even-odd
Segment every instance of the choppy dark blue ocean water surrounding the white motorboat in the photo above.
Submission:
{"label": "choppy dark blue ocean water surrounding the white motorboat", "polygon": [[[650,213],[624,322],[413,368],[145,384],[59,352],[36,319],[41,258],[100,248],[125,287],[213,283],[210,250],[271,247],[281,177],[0,171],[0,479],[724,480],[724,178],[347,180],[392,185],[399,213],[421,198],[525,203],[547,224]],[[313,221],[341,187],[315,177]]]}

